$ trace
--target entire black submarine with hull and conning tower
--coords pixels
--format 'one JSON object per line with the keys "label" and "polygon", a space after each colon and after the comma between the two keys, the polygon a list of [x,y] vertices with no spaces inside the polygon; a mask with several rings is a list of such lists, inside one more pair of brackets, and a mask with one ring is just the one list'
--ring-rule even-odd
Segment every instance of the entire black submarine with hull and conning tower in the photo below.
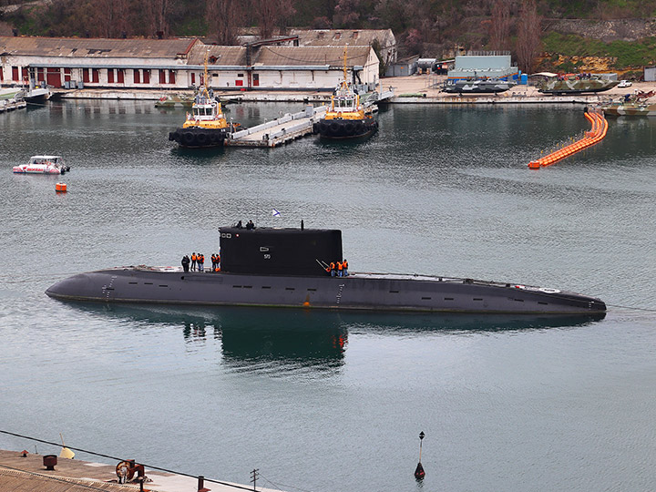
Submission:
{"label": "entire black submarine with hull and conning tower", "polygon": [[442,313],[605,313],[596,297],[537,286],[434,275],[347,272],[342,231],[220,227],[220,271],[146,265],[79,273],[46,290],[64,301],[272,306]]}

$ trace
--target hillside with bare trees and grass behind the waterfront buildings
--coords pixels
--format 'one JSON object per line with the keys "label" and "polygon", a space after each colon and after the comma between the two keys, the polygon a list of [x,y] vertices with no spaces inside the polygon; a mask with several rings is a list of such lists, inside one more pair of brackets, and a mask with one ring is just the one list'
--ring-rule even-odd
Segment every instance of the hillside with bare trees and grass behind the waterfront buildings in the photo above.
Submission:
{"label": "hillside with bare trees and grass behind the waterfront buildings", "polygon": [[[529,8],[536,28],[527,34]],[[0,35],[220,39],[244,27],[266,36],[286,26],[391,28],[399,56],[497,49],[525,71],[638,73],[656,63],[656,18],[643,12],[656,12],[656,0],[0,0]]]}

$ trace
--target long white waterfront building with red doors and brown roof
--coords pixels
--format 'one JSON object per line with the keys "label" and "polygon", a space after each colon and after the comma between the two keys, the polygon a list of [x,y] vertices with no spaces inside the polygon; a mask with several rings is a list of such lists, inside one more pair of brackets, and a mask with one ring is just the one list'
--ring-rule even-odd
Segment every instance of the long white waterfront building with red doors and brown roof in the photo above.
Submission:
{"label": "long white waterfront building with red doors and brown roof", "polygon": [[[333,89],[343,78],[343,46],[215,46],[198,38],[103,39],[0,37],[0,85],[63,88]],[[355,83],[378,83],[371,46],[348,46]]]}

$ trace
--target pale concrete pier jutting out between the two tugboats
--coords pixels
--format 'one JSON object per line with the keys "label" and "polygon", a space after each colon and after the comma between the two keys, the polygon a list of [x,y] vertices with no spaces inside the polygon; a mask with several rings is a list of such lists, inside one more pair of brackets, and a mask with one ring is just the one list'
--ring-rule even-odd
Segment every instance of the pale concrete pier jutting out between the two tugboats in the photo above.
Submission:
{"label": "pale concrete pier jutting out between the two tugboats", "polygon": [[281,118],[231,133],[225,144],[234,147],[278,147],[312,134],[313,124],[323,118],[325,111],[325,106],[307,106],[304,111],[287,113]]}

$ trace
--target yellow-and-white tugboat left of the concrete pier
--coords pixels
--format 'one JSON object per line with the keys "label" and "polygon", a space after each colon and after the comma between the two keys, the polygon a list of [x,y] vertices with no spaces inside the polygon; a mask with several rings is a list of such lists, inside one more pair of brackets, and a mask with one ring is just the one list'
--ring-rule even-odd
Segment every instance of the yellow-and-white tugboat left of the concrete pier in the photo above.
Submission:
{"label": "yellow-and-white tugboat left of the concrete pier", "polygon": [[[207,83],[207,55],[205,55],[205,79]],[[182,128],[169,133],[169,140],[175,140],[180,147],[220,147],[235,125],[228,123],[223,115],[221,104],[214,98],[212,89],[200,87],[194,97],[191,113],[187,113]]]}

